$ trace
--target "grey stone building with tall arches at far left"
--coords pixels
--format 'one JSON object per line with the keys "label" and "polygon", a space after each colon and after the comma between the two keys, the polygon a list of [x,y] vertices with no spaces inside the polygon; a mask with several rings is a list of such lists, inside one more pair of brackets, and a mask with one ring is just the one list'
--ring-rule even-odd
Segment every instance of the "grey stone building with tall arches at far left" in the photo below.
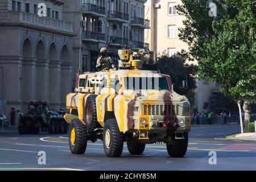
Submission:
{"label": "grey stone building with tall arches at far left", "polygon": [[[30,101],[65,103],[72,90],[72,23],[63,20],[65,0],[0,1],[0,100],[24,111]],[[46,5],[46,17],[38,5]],[[7,114],[9,115],[9,114]]]}

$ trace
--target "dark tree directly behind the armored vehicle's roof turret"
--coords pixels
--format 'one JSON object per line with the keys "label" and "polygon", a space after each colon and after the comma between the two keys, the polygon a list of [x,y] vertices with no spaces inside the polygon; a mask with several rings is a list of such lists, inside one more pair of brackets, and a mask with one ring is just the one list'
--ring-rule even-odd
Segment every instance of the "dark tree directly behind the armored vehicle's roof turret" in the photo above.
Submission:
{"label": "dark tree directly behind the armored vehicle's roof turret", "polygon": [[[158,55],[156,67],[161,73],[170,75],[175,92],[187,96],[189,102],[193,104],[195,97],[193,89],[196,88],[195,75],[197,67],[196,65],[185,63],[187,58],[188,56],[184,51],[178,52],[171,57],[163,52],[162,55]],[[187,84],[184,81],[187,81]]]}

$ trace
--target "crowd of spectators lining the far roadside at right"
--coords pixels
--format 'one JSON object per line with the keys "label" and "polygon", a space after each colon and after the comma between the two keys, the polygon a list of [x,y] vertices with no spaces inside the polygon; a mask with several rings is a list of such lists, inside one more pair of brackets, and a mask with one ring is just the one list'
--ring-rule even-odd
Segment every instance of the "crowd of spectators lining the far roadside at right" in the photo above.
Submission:
{"label": "crowd of spectators lining the far roadside at right", "polygon": [[[242,112],[242,119],[245,117],[245,113]],[[254,114],[256,118],[256,113]],[[191,113],[191,123],[194,125],[202,125],[202,124],[222,124],[226,125],[228,122],[240,122],[239,113],[231,112],[231,111],[221,111],[220,113],[213,113],[210,111],[209,113],[201,113],[195,111]]]}

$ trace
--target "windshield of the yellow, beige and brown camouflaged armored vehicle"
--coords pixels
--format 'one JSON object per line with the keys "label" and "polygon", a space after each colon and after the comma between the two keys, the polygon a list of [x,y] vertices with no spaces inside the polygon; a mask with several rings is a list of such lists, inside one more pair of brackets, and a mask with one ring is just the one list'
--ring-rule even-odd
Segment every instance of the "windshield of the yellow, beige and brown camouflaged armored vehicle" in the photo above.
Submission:
{"label": "windshield of the yellow, beige and brown camouflaged armored vehicle", "polygon": [[129,90],[169,90],[166,78],[125,77],[125,89]]}

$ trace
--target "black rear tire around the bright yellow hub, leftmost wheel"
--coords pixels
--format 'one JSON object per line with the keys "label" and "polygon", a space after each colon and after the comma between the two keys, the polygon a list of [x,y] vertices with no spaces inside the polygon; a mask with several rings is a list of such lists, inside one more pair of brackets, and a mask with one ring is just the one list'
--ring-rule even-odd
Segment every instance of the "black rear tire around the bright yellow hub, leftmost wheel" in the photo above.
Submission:
{"label": "black rear tire around the bright yellow hub, leftmost wheel", "polygon": [[[72,130],[75,129],[75,142],[72,143]],[[87,129],[79,119],[73,119],[69,127],[69,148],[72,154],[84,154],[87,146]]]}

